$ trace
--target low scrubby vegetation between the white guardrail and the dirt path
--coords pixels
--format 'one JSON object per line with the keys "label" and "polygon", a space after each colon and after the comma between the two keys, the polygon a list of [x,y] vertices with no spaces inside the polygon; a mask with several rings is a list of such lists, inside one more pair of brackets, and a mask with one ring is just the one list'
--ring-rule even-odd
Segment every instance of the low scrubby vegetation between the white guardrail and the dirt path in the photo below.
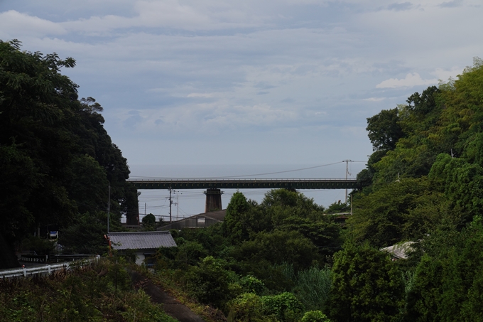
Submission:
{"label": "low scrubby vegetation between the white guardrail and the dirt path", "polygon": [[0,280],[1,321],[176,322],[141,289],[121,259],[102,259],[49,277]]}

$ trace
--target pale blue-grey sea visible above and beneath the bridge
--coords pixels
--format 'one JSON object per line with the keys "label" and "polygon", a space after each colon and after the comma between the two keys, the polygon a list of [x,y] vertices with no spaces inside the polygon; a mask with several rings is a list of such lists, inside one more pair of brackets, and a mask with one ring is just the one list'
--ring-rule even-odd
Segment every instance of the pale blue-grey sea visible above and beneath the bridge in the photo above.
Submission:
{"label": "pale blue-grey sea visible above and beneath the bridge", "polygon": [[[349,162],[348,178],[356,178],[365,168],[365,162]],[[241,165],[130,165],[130,178],[345,178],[346,163],[332,162],[320,164],[241,164]],[[225,189],[222,205],[226,208],[235,189]],[[156,220],[169,220],[168,190],[139,190],[139,217],[152,213]],[[240,190],[247,199],[260,203],[266,189]],[[330,204],[344,202],[345,190],[300,190],[315,203],[327,208]],[[350,190],[349,190],[350,192]],[[172,194],[173,220],[190,217],[205,211],[203,190],[178,190]]]}

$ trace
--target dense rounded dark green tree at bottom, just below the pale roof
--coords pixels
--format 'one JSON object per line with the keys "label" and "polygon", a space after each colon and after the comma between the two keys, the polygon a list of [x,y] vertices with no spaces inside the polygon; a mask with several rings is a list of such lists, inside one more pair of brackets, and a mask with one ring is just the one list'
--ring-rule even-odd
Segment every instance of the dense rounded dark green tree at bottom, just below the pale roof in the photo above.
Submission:
{"label": "dense rounded dark green tree at bottom, just below the pale roof", "polygon": [[397,321],[403,279],[389,254],[347,242],[334,256],[330,318],[335,321]]}

